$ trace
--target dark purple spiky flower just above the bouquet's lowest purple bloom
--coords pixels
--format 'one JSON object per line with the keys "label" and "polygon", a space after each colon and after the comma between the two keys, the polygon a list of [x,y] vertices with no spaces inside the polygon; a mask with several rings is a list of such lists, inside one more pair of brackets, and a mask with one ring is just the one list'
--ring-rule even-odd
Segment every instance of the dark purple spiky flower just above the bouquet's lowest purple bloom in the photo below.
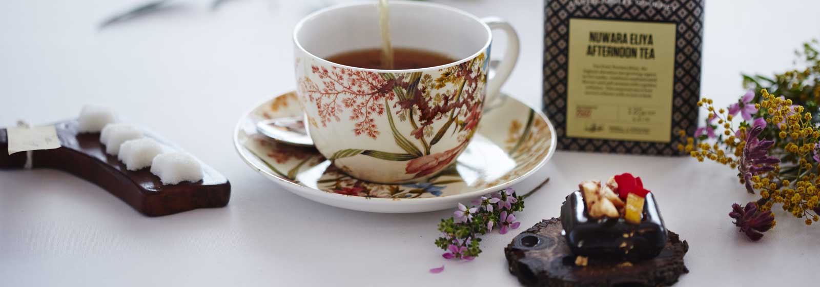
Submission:
{"label": "dark purple spiky flower just above the bouquet's lowest purple bloom", "polygon": [[746,145],[743,147],[743,154],[740,156],[740,164],[737,170],[743,176],[745,181],[746,191],[754,194],[752,188],[752,176],[759,175],[768,171],[773,171],[774,166],[780,163],[777,157],[768,156],[768,149],[774,145],[773,140],[759,140],[758,135],[763,132],[760,126],[754,126],[749,134],[746,136]]}

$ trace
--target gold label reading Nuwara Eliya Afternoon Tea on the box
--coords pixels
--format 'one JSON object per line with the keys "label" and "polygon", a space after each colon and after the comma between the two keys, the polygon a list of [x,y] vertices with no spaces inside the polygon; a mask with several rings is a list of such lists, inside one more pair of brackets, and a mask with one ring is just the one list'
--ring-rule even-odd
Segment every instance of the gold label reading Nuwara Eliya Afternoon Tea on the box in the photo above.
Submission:
{"label": "gold label reading Nuwara Eliya Afternoon Tea on the box", "polygon": [[676,25],[570,19],[567,136],[668,143]]}

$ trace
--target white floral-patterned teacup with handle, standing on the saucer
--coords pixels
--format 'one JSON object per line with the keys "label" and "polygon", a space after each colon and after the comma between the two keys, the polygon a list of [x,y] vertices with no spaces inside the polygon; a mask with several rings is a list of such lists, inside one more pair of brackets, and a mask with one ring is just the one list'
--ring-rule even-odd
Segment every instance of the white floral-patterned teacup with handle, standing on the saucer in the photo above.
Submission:
{"label": "white floral-patterned teacup with handle, standing on the saucer", "polygon": [[[506,21],[421,2],[390,2],[394,47],[459,59],[412,70],[374,70],[324,58],[380,44],[376,3],[326,8],[294,30],[298,98],[319,152],[362,180],[424,180],[467,147],[484,103],[499,94],[518,57]],[[488,81],[491,29],[507,34],[505,58]]]}

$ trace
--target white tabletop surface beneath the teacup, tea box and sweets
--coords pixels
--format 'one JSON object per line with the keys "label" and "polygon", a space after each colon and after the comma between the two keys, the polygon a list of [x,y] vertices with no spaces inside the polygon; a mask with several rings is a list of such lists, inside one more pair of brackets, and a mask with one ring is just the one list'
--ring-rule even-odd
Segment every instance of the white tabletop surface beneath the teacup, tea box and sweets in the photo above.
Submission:
{"label": "white tabletop surface beneath the teacup, tea box and sweets", "polygon": [[[755,199],[736,172],[686,157],[558,152],[516,186],[552,178],[527,199],[522,229],[485,236],[473,262],[445,261],[433,240],[452,211],[327,207],[280,189],[235,153],[239,116],[294,88],[290,30],[323,1],[231,1],[210,11],[207,1],[180,0],[178,9],[97,29],[140,2],[0,2],[0,126],[71,118],[85,103],[113,107],[225,174],[230,203],[149,218],[62,171],[0,171],[0,285],[516,285],[503,257],[510,239],[558,216],[579,181],[623,171],[645,179],[668,228],[689,241],[691,272],[680,285],[816,279],[818,226],[778,211],[777,228],[750,242],[727,216],[731,203]],[[543,2],[442,2],[512,22],[522,57],[503,89],[539,107]],[[730,103],[743,92],[740,71],[784,70],[799,43],[818,36],[817,11],[816,1],[709,1],[703,95]],[[428,272],[442,264],[443,273]]]}

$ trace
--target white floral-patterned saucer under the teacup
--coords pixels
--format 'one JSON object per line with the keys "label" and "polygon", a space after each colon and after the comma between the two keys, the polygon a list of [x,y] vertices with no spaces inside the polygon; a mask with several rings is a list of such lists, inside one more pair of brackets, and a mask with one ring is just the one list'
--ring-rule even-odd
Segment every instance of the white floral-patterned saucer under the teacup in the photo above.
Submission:
{"label": "white floral-patterned saucer under the teacup", "polygon": [[239,157],[285,189],[318,203],[363,212],[430,212],[490,194],[532,175],[555,152],[555,130],[543,113],[503,96],[488,107],[467,149],[425,183],[382,185],[357,180],[314,148],[279,144],[257,132],[257,121],[300,116],[295,92],[257,105],[236,125]]}

